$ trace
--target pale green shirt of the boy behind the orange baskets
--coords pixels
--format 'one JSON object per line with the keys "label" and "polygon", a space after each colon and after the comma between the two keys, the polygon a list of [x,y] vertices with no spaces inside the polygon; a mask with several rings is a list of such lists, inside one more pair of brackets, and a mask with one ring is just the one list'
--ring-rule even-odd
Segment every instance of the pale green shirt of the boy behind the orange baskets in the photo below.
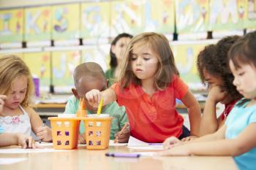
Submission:
{"label": "pale green shirt of the boy behind the orange baskets", "polygon": [[[79,100],[75,96],[71,96],[66,104],[65,113],[76,114],[79,108]],[[94,114],[93,112],[87,110],[87,114]],[[121,131],[121,128],[124,127],[124,124],[128,122],[127,113],[125,112],[124,107],[119,107],[115,102],[108,104],[102,108],[102,114],[109,114],[112,119],[111,130],[110,130],[110,139],[115,139],[115,134],[118,131]],[[85,131],[83,121],[80,123],[80,134],[83,134]]]}

